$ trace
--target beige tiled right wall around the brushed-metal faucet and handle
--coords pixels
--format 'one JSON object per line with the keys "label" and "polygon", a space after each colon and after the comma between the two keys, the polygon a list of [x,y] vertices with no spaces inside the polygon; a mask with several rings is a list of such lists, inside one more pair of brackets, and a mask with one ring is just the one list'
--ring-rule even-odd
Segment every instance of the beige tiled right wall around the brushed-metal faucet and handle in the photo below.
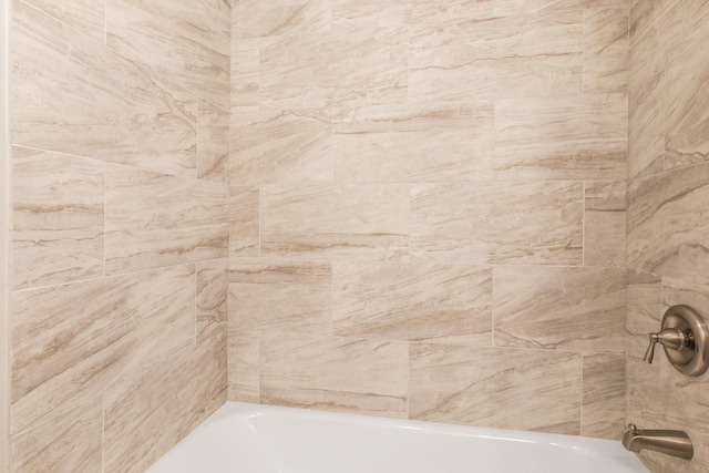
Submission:
{"label": "beige tiled right wall around the brushed-metal faucet and handle", "polygon": [[653,472],[709,472],[709,374],[643,362],[669,306],[709,317],[709,2],[636,1],[630,40],[627,418],[693,442],[691,462],[644,453]]}

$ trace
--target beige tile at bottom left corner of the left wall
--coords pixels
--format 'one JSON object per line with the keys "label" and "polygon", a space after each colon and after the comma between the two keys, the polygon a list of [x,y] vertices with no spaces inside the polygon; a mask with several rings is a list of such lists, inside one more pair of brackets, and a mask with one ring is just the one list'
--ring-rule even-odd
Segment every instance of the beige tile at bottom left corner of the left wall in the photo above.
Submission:
{"label": "beige tile at bottom left corner of the left wall", "polygon": [[93,399],[11,439],[14,473],[95,473],[103,464],[101,399]]}

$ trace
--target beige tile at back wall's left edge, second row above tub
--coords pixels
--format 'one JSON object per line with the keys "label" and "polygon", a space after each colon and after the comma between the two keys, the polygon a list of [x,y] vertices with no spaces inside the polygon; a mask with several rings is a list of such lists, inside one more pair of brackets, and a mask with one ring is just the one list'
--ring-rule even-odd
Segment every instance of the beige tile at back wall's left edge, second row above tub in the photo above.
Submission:
{"label": "beige tile at back wall's left edge, second row above tub", "polygon": [[329,263],[232,259],[229,329],[329,335]]}

